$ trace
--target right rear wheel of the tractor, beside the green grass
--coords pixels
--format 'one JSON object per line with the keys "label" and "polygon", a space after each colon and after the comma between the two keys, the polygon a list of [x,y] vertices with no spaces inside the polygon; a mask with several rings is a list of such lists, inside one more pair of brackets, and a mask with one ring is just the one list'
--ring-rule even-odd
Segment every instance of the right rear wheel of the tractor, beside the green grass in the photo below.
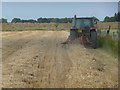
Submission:
{"label": "right rear wheel of the tractor, beside the green grass", "polygon": [[90,36],[91,36],[91,46],[92,48],[96,49],[97,48],[97,32],[91,31]]}

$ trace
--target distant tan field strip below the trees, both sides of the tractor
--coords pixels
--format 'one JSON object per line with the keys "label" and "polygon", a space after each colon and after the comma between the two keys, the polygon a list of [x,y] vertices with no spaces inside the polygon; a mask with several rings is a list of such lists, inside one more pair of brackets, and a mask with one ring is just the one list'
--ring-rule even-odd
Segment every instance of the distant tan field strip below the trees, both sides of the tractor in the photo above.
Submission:
{"label": "distant tan field strip below the trees, both sides of the tractor", "polygon": [[[120,27],[118,26],[120,22],[107,22],[102,23],[99,22],[97,27],[101,30],[107,30],[108,26],[111,26],[112,30],[118,30]],[[3,31],[23,31],[23,30],[69,30],[71,28],[71,23],[3,23],[2,30]]]}

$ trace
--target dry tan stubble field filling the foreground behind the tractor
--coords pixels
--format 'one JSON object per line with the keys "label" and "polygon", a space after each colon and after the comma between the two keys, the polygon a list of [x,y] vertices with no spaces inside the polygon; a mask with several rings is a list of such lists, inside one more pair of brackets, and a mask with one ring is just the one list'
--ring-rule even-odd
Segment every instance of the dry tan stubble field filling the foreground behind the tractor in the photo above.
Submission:
{"label": "dry tan stubble field filling the foreground behind the tractor", "polygon": [[3,33],[3,87],[117,87],[118,62],[100,49],[62,45],[65,31]]}

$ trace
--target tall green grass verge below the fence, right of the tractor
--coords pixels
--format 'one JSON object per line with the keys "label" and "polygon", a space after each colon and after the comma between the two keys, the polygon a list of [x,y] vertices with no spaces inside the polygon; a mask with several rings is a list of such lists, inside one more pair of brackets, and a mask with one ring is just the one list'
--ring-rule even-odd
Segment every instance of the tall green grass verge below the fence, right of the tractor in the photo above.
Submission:
{"label": "tall green grass verge below the fence, right of the tractor", "polygon": [[120,44],[120,41],[113,40],[111,36],[98,37],[99,46],[102,47],[105,51],[111,53],[111,55],[116,58],[120,56],[120,53],[118,53],[118,50],[120,49],[118,43]]}

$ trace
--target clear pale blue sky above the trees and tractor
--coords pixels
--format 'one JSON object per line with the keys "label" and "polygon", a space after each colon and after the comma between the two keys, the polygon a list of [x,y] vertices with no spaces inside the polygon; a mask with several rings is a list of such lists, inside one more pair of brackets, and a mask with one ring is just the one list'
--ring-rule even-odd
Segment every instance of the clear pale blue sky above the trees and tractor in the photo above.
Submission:
{"label": "clear pale blue sky above the trees and tractor", "polygon": [[101,21],[118,12],[118,2],[2,2],[2,17],[38,19],[95,16]]}

